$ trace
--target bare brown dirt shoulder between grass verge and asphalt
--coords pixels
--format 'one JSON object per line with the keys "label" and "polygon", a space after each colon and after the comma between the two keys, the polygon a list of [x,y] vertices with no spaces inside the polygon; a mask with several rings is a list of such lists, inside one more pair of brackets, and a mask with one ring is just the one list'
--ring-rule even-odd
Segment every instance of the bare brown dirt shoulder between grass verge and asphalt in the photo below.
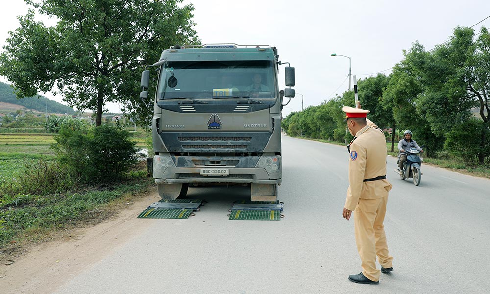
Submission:
{"label": "bare brown dirt shoulder between grass verge and asphalt", "polygon": [[134,202],[115,217],[94,226],[75,229],[55,241],[23,248],[23,254],[0,265],[0,293],[52,293],[73,276],[108,253],[137,237],[155,220],[138,219],[149,204],[160,199],[156,192],[135,196]]}

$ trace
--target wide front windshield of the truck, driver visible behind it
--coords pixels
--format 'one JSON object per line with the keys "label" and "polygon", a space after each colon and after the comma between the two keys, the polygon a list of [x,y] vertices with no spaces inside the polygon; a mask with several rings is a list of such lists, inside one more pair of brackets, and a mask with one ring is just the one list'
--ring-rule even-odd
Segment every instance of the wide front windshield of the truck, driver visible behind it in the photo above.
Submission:
{"label": "wide front windshield of the truck, driver visible behind it", "polygon": [[179,61],[162,67],[157,99],[274,99],[273,63],[253,61]]}

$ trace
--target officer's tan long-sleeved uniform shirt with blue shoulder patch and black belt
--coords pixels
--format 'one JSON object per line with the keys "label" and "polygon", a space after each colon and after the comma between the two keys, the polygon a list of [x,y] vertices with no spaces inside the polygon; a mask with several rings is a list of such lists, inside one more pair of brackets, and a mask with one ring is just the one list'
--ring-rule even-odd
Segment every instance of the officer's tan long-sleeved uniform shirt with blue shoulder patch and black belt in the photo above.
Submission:
{"label": "officer's tan long-sleeved uniform shirt with blue shoulder patch and black belt", "polygon": [[363,182],[364,179],[386,175],[385,135],[370,125],[374,123],[357,132],[356,139],[350,145],[349,188],[344,207],[351,211],[356,208],[359,199],[381,198],[387,196],[392,188],[386,179]]}

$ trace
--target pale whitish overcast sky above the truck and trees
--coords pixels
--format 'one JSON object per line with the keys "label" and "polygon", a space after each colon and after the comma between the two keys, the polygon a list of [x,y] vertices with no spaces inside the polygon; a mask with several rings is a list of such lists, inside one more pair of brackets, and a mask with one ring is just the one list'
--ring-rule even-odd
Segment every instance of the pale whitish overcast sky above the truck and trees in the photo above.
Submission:
{"label": "pale whitish overcast sky above the truck and trees", "polygon": [[[489,0],[184,0],[194,5],[203,43],[268,44],[295,67],[296,97],[283,116],[348,90],[349,58],[357,80],[391,73],[403,50],[419,41],[426,50],[449,40],[457,26],[490,28]],[[0,47],[25,15],[23,0],[0,10]],[[489,17],[489,18],[487,18]],[[486,19],[487,18],[487,19]],[[42,19],[46,24],[52,20]],[[162,48],[167,49],[167,48]],[[3,49],[0,49],[3,50]],[[279,67],[284,89],[284,65]],[[8,81],[0,77],[0,81]],[[351,81],[353,88],[353,81]],[[43,94],[63,104],[61,97]],[[303,104],[303,105],[302,105]],[[108,105],[118,112],[119,105]]]}

